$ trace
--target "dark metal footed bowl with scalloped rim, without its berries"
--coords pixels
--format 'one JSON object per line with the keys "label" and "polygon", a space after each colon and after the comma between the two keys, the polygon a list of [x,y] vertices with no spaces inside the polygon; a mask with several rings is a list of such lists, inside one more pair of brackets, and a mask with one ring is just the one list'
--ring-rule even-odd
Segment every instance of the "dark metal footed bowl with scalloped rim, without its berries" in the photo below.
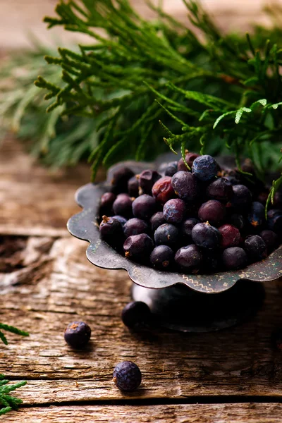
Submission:
{"label": "dark metal footed bowl with scalloped rim, without its berries", "polygon": [[[99,225],[97,223],[100,198],[104,192],[109,190],[114,171],[116,171],[118,167],[125,165],[131,168],[135,173],[140,173],[145,168],[156,168],[156,164],[125,161],[122,164],[113,166],[108,172],[106,181],[103,183],[97,185],[88,183],[82,186],[75,194],[75,200],[83,210],[75,216],[72,216],[67,226],[68,231],[72,235],[90,243],[86,252],[87,259],[95,266],[102,267],[103,269],[126,270],[128,276],[134,282],[133,298],[135,300],[144,300],[153,311],[157,312],[157,314],[164,314],[163,312],[165,309],[165,316],[162,316],[163,326],[171,327],[171,329],[181,331],[222,329],[223,327],[232,326],[245,318],[245,315],[250,314],[250,309],[254,312],[255,308],[259,307],[262,303],[263,288],[259,287],[261,284],[258,282],[266,283],[276,281],[282,277],[282,245],[272,252],[271,255],[266,257],[266,259],[251,264],[242,270],[219,272],[216,274],[190,275],[157,271],[142,264],[131,262],[100,238]],[[237,285],[235,287],[235,284],[239,281],[238,287]],[[183,288],[189,289],[183,290]],[[163,291],[157,293],[155,290]],[[225,291],[227,290],[229,290],[230,295],[226,295]],[[194,298],[192,292],[195,292]],[[207,297],[209,297],[209,299],[207,299]],[[179,301],[182,304],[185,298],[188,300],[188,304],[192,305],[192,302],[194,303],[193,306],[190,307],[192,311],[188,313],[189,316],[187,312],[185,313],[186,323],[180,324],[179,319],[180,321],[184,321],[185,319],[178,316],[178,322],[171,324],[171,321],[173,321],[172,317],[170,316],[169,319],[166,319],[166,317],[168,314],[175,314],[176,310],[180,307]],[[243,307],[243,298],[245,298],[246,302],[245,307]],[[171,302],[172,305],[173,301],[173,309],[168,309],[168,304]],[[235,308],[233,312],[231,312],[232,307],[230,304],[228,305],[227,308],[230,309],[232,316],[231,319],[228,317],[226,321],[225,317],[228,310],[225,306],[223,307],[223,302],[228,304],[230,301]],[[240,317],[238,317],[238,305],[235,305],[235,302],[238,301],[244,308],[243,313],[242,310],[240,312]],[[206,309],[203,319],[202,314],[197,316],[197,302],[204,305]],[[217,304],[217,302],[219,302],[219,304]],[[252,305],[253,302],[254,304]],[[181,307],[183,307],[183,305],[185,306],[185,302]],[[219,317],[217,315],[216,317],[207,316],[206,314],[214,309],[214,307],[225,309],[223,313],[225,317]],[[193,314],[193,316],[191,316],[191,314]],[[187,319],[191,319],[191,317],[194,319],[192,326],[187,323]],[[166,320],[165,323],[164,318]],[[223,321],[225,321],[225,323],[223,323]]]}

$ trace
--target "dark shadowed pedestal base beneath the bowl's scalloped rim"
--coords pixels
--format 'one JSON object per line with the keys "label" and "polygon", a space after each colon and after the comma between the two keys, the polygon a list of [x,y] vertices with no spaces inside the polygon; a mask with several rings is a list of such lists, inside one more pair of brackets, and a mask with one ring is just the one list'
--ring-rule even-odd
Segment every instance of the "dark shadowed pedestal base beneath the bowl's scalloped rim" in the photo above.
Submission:
{"label": "dark shadowed pedestal base beneath the bowl's scalloped rim", "polygon": [[222,293],[206,294],[183,284],[151,289],[133,283],[132,297],[146,302],[158,326],[181,332],[209,332],[255,315],[264,302],[264,287],[243,280]]}

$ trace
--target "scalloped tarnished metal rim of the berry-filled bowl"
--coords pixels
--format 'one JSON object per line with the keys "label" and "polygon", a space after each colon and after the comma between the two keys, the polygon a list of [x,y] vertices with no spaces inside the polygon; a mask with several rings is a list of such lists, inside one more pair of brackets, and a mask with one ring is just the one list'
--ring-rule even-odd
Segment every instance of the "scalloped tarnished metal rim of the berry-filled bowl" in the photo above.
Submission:
{"label": "scalloped tarnished metal rim of the berry-filled bowl", "polygon": [[[125,162],[126,163],[126,162]],[[123,166],[124,164],[123,163]],[[129,161],[128,166],[135,173],[152,164]],[[121,166],[121,165],[117,165]],[[115,166],[116,168],[116,166]],[[99,237],[97,215],[100,197],[109,189],[113,168],[104,183],[94,185],[89,183],[78,190],[76,201],[83,211],[71,217],[68,221],[68,231],[82,240],[90,242],[87,248],[87,258],[96,266],[104,269],[125,269],[133,282],[145,288],[167,288],[181,283],[200,293],[221,293],[230,289],[240,279],[256,282],[269,282],[282,277],[282,246],[262,262],[257,262],[239,271],[226,271],[217,274],[187,275],[176,272],[157,271],[150,267],[130,262],[116,250],[111,248]]]}

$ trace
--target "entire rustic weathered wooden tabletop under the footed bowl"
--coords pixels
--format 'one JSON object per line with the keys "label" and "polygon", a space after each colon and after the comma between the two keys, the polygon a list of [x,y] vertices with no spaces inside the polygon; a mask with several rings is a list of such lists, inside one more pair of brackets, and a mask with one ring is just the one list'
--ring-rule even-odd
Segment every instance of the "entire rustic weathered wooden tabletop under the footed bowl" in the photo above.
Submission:
{"label": "entire rustic weathered wooden tabletop under the footed bowl", "polygon": [[[101,176],[102,177],[102,176]],[[14,140],[0,151],[0,321],[30,331],[8,334],[0,369],[23,407],[5,422],[281,422],[282,353],[270,334],[282,326],[278,286],[266,288],[255,318],[217,333],[131,333],[121,309],[130,300],[124,271],[92,266],[87,243],[66,231],[80,209],[75,190],[87,166],[51,172]],[[81,319],[92,328],[87,350],[66,345],[63,330]],[[133,360],[143,381],[123,395],[111,375]]]}

